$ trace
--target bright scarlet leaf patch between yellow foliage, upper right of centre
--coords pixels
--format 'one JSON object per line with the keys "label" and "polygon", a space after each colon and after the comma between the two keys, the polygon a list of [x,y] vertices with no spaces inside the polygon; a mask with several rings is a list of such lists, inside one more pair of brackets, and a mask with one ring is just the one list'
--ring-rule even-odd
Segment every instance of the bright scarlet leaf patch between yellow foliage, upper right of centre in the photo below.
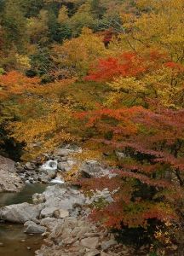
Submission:
{"label": "bright scarlet leaf patch between yellow foliage, upper right of centre", "polygon": [[148,55],[143,56],[135,52],[124,52],[119,57],[99,60],[98,65],[84,79],[103,82],[119,76],[137,78],[143,73],[157,70],[166,59],[166,55],[157,50],[152,50]]}

